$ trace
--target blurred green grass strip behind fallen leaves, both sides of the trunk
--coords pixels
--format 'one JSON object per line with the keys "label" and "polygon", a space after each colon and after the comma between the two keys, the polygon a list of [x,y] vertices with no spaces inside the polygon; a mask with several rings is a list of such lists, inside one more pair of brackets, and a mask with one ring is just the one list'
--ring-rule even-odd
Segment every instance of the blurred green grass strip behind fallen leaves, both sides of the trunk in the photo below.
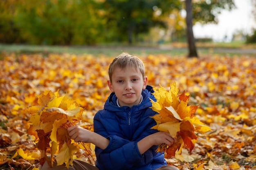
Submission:
{"label": "blurred green grass strip behind fallen leaves, both sides of the trunk", "polygon": [[[232,43],[197,43],[198,55],[241,55],[255,54],[256,49],[245,46],[243,42]],[[94,56],[117,56],[122,52],[132,55],[157,55],[166,54],[170,56],[186,56],[188,54],[187,43],[172,43],[156,46],[130,46],[130,45],[100,45],[100,46],[45,46],[45,45],[24,45],[24,44],[0,44],[0,53],[31,54],[41,53],[48,56],[50,53],[70,53],[75,55],[91,54]],[[4,58],[0,55],[0,59]]]}

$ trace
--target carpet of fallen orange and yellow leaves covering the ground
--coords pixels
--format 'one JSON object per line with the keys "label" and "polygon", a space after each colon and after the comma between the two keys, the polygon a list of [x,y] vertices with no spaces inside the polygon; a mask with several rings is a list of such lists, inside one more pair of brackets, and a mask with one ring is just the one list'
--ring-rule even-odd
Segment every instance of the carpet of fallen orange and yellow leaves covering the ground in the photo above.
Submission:
{"label": "carpet of fallen orange and yellow leaves covering the ground", "polygon": [[[45,90],[69,95],[86,111],[92,124],[110,91],[108,66],[113,57],[72,54],[2,53],[0,60],[0,169],[32,170],[39,159],[26,159],[17,150],[33,150],[27,135],[33,105]],[[192,154],[167,159],[180,169],[256,169],[256,57],[206,55],[186,58],[164,54],[140,55],[148,84],[166,89],[175,81],[190,94],[189,105],[199,105],[195,115],[213,131],[198,134]],[[20,153],[20,152],[19,152]],[[89,161],[88,155],[80,154]],[[4,158],[9,161],[5,162]],[[200,166],[201,165],[201,166]]]}

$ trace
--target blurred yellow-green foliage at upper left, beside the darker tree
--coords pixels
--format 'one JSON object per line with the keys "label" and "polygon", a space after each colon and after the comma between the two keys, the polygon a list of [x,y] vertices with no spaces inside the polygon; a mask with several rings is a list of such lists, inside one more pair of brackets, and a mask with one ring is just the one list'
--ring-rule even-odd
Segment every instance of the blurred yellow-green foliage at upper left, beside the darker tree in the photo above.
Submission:
{"label": "blurred yellow-green foliage at upper left, beside the darker tree", "polygon": [[97,44],[103,40],[97,0],[8,2],[15,10],[11,20],[20,31],[20,38],[29,44]]}

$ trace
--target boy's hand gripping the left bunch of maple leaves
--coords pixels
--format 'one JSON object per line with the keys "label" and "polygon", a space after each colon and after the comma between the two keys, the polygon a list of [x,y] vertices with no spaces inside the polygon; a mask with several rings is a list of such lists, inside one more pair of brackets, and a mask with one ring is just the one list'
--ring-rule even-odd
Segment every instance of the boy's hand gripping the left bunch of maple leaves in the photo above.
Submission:
{"label": "boy's hand gripping the left bunch of maple leaves", "polygon": [[70,126],[67,128],[68,135],[71,139],[74,139],[75,142],[82,141],[84,143],[90,143],[90,137],[92,133],[90,130],[84,129],[80,126]]}

